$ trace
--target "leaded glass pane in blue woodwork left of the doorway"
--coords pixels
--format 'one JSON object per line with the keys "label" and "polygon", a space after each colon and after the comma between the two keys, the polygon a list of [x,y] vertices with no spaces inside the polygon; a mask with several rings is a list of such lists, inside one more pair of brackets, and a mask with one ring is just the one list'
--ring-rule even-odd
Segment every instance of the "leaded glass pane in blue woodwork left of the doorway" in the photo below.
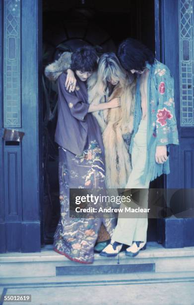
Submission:
{"label": "leaded glass pane in blue woodwork left of the doorway", "polygon": [[4,127],[21,127],[20,0],[4,0]]}

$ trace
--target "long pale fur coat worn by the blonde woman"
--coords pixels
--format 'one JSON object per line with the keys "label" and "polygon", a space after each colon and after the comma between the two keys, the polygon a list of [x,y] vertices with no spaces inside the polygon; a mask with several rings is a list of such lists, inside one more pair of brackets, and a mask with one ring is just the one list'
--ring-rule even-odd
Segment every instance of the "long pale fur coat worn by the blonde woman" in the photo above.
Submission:
{"label": "long pale fur coat worn by the blonde woman", "polygon": [[[45,75],[52,81],[70,68],[71,53],[65,52],[59,60],[48,65]],[[128,79],[123,87],[115,86],[114,91],[108,97],[100,94],[97,84],[97,73],[94,72],[87,80],[88,102],[98,105],[107,99],[110,101],[120,97],[121,107],[93,112],[103,135],[106,159],[106,186],[107,188],[125,188],[131,171],[129,144],[133,129],[134,92],[135,82],[131,84]]]}

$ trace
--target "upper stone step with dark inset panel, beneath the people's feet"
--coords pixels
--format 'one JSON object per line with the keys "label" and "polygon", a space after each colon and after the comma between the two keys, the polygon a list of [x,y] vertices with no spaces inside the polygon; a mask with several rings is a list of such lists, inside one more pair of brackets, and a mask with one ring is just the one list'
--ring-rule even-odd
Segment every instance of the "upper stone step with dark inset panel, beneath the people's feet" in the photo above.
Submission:
{"label": "upper stone step with dark inset panel, beneath the people's feet", "polygon": [[[119,264],[118,264],[119,263]],[[194,247],[165,249],[154,242],[147,249],[130,258],[125,252],[120,258],[106,258],[95,254],[93,264],[72,262],[46,246],[40,253],[6,253],[0,255],[0,277],[52,277],[92,274],[127,274],[134,272],[194,271]]]}

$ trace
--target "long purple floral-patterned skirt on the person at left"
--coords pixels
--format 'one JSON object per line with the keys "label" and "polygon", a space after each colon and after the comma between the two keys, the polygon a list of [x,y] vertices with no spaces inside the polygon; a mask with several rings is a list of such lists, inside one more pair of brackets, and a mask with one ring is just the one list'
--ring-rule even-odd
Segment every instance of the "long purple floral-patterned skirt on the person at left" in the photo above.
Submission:
{"label": "long purple floral-patterned skirt on the person at left", "polygon": [[55,233],[54,250],[80,263],[92,263],[94,245],[103,222],[112,235],[115,219],[69,217],[69,187],[105,188],[104,157],[96,140],[89,142],[83,155],[59,149],[61,218]]}

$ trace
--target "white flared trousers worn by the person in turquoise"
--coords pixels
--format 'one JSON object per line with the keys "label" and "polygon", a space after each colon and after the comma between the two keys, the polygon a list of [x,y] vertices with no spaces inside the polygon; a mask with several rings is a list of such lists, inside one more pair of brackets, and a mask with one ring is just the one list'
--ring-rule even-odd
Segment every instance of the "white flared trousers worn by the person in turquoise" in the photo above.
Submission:
{"label": "white flared trousers worn by the person in turquoise", "polygon": [[[140,203],[141,206],[147,208],[148,205],[148,188],[150,183],[150,176],[146,178],[145,184],[141,184],[139,178],[144,173],[146,152],[147,152],[147,121],[141,120],[138,131],[134,137],[133,148],[131,152],[132,171],[129,176],[126,188],[146,188],[141,191]],[[121,207],[125,208],[124,204]],[[130,213],[129,213],[130,214]],[[120,217],[121,216],[121,217]],[[127,217],[127,216],[126,216]],[[131,245],[133,241],[144,241],[147,239],[147,214],[144,218],[122,218],[119,215],[117,226],[113,232],[112,240],[122,244]]]}

